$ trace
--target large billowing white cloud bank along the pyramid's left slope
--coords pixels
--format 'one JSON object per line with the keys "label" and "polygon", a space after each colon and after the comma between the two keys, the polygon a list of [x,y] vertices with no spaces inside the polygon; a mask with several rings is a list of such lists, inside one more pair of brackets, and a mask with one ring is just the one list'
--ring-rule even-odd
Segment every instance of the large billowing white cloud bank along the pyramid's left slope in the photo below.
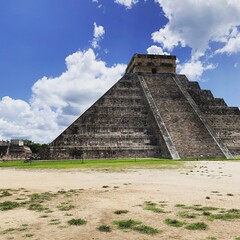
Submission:
{"label": "large billowing white cloud bank along the pyramid's left slope", "polygon": [[43,77],[32,87],[30,102],[0,101],[0,138],[48,143],[90,107],[124,73],[126,65],[107,67],[94,51],[78,51],[65,60],[60,76]]}

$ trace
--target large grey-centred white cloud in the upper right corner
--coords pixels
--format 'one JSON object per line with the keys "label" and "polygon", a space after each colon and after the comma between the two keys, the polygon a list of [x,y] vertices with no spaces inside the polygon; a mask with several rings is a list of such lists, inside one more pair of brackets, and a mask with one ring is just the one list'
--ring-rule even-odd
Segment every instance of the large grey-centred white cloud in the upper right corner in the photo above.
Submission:
{"label": "large grey-centred white cloud in the upper right corner", "polygon": [[[231,30],[240,25],[239,0],[155,0],[169,19],[167,25],[152,34],[154,42],[172,50],[177,46],[192,48],[197,60],[211,42],[230,42]],[[233,43],[231,43],[233,41]],[[238,46],[238,45],[237,45]],[[229,49],[231,46],[229,47]],[[230,51],[230,50],[226,50]]]}

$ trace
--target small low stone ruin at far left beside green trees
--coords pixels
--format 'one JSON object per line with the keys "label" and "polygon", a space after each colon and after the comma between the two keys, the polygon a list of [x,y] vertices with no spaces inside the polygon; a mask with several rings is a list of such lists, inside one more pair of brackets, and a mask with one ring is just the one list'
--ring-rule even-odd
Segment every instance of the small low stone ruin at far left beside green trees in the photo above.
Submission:
{"label": "small low stone ruin at far left beside green trees", "polygon": [[32,154],[22,140],[0,141],[0,160],[25,159]]}

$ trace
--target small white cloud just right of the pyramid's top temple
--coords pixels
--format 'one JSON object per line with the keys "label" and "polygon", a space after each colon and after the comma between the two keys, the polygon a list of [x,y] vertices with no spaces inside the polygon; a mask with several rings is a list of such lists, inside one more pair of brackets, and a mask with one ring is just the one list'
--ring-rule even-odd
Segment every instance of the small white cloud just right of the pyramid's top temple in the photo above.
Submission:
{"label": "small white cloud just right of the pyramid's top temple", "polygon": [[185,74],[191,81],[199,81],[204,71],[215,69],[213,64],[203,64],[199,60],[192,60],[177,66],[180,74]]}

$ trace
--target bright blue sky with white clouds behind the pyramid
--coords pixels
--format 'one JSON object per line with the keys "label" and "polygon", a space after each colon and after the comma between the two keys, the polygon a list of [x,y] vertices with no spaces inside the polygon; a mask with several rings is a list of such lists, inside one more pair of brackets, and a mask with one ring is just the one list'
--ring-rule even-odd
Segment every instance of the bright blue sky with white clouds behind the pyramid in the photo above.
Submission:
{"label": "bright blue sky with white clouds behind the pyramid", "polygon": [[134,53],[240,107],[239,0],[0,0],[0,139],[52,141]]}

